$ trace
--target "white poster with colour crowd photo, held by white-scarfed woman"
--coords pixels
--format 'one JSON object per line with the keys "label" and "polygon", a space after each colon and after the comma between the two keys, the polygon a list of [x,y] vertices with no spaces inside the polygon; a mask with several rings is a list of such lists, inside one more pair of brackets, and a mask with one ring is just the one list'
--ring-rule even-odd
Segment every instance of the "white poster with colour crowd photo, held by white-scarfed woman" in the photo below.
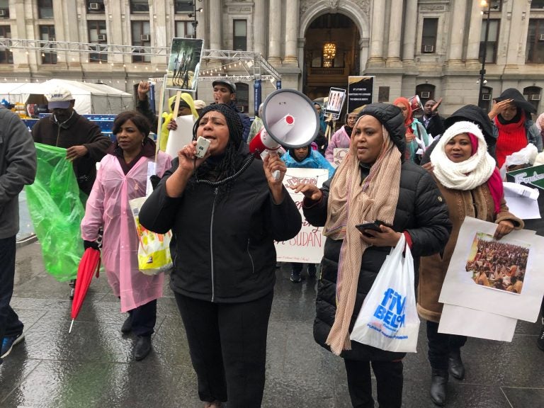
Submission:
{"label": "white poster with colour crowd photo, held by white-scarfed woman", "polygon": [[544,295],[538,271],[544,237],[515,229],[497,240],[496,229],[494,222],[465,217],[438,301],[535,322]]}

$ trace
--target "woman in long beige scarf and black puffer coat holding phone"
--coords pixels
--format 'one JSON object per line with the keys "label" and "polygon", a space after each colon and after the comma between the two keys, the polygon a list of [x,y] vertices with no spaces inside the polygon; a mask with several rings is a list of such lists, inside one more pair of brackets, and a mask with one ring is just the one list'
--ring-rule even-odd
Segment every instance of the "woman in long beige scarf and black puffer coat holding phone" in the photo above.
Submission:
{"label": "woman in long beige scarf and black puffer coat holding phone", "polygon": [[[308,222],[327,236],[317,292],[314,338],[344,358],[353,407],[374,407],[370,364],[381,408],[402,404],[402,358],[350,341],[349,333],[380,266],[401,236],[412,255],[435,254],[448,241],[446,203],[429,174],[404,160],[404,119],[384,103],[365,106],[353,128],[351,145],[334,177],[322,188],[295,186],[305,195]],[[356,225],[380,220],[381,232]]]}

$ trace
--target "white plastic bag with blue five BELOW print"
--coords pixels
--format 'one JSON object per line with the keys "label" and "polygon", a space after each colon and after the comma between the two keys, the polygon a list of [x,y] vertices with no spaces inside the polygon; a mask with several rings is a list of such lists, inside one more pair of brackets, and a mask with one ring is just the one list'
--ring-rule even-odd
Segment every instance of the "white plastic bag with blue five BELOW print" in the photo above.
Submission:
{"label": "white plastic bag with blue five BELOW print", "polygon": [[382,350],[416,353],[418,332],[414,259],[402,234],[365,297],[350,339]]}

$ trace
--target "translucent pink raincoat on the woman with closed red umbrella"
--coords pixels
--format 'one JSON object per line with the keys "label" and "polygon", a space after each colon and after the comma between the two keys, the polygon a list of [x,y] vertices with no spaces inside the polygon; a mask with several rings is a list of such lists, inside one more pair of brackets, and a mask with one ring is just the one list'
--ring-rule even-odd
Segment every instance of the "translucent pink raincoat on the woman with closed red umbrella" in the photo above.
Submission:
{"label": "translucent pink raincoat on the woman with closed red umbrella", "polygon": [[[106,154],[100,162],[96,181],[81,221],[81,237],[96,241],[103,226],[102,263],[113,294],[121,298],[121,312],[162,297],[164,273],[147,276],[138,271],[138,237],[128,201],[145,196],[147,163],[141,157],[125,176],[117,157]],[[157,175],[170,168],[170,157],[159,151]]]}

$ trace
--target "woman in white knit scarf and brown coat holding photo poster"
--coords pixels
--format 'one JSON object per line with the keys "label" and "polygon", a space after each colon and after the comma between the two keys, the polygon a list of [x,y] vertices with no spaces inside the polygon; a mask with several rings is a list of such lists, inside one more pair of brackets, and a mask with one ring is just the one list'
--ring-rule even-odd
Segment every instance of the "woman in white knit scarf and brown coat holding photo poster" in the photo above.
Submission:
{"label": "woman in white knit scarf and brown coat holding photo poster", "polygon": [[438,297],[459,229],[465,217],[496,222],[495,239],[501,239],[512,229],[523,228],[523,221],[508,211],[499,170],[487,153],[482,131],[474,123],[457,122],[450,126],[431,153],[433,176],[446,199],[453,230],[443,255],[421,258],[417,308],[427,320],[429,362],[431,363],[431,399],[437,405],[446,403],[448,370],[462,380],[465,368],[460,348],[465,336],[438,333],[442,304]]}

